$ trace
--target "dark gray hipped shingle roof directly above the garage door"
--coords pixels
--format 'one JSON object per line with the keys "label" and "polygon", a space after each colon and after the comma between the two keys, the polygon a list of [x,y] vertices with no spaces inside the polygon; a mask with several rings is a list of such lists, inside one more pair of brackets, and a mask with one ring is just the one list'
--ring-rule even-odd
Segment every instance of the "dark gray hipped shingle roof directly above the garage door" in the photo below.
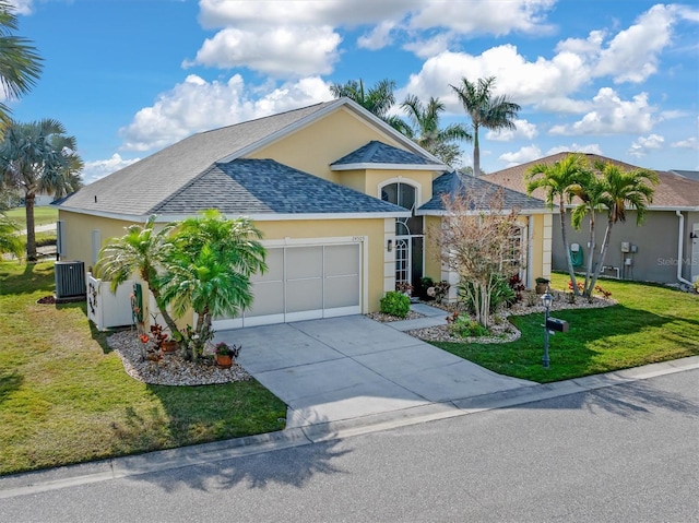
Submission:
{"label": "dark gray hipped shingle roof directly above the garage door", "polygon": [[274,159],[246,158],[212,166],[151,212],[190,215],[211,207],[258,219],[279,214],[410,215],[403,207]]}

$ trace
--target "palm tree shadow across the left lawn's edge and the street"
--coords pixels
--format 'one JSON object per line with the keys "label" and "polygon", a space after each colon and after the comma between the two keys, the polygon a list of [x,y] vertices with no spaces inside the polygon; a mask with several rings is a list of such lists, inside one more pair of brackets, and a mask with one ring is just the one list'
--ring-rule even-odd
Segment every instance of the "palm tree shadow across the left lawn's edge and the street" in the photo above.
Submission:
{"label": "palm tree shadow across the left lawn's edge and the street", "polygon": [[[194,432],[198,429],[201,430],[204,424],[210,425],[224,425],[229,423],[226,419],[225,408],[225,393],[226,391],[221,385],[206,385],[209,389],[218,388],[214,390],[215,394],[220,394],[222,401],[220,405],[211,405],[205,402],[204,399],[200,399],[201,408],[188,409],[179,405],[180,391],[171,394],[174,389],[181,389],[181,393],[198,394],[201,387],[198,388],[173,388],[173,387],[152,387],[152,392],[157,395],[163,402],[163,406],[167,413],[168,419],[163,419],[164,416],[158,413],[151,413],[152,420],[144,420],[142,416],[133,416],[131,418],[132,429],[138,430],[142,424],[157,423],[161,426],[166,427],[166,431],[170,433],[179,432]],[[259,383],[254,382],[254,389],[260,389],[259,393],[269,394]],[[242,391],[244,394],[252,393],[253,391]],[[264,399],[264,397],[263,397]],[[196,400],[194,400],[196,401]],[[258,399],[258,401],[261,401]],[[211,412],[206,412],[209,407],[220,408],[223,405],[221,414],[212,415]],[[191,447],[181,447],[177,450],[164,451],[163,453],[154,453],[144,456],[134,456],[133,462],[131,459],[126,460],[126,468],[133,469],[147,468],[151,464],[163,466],[163,469],[153,472],[150,474],[141,474],[133,476],[134,480],[147,482],[155,484],[165,491],[176,491],[178,488],[191,488],[200,491],[217,492],[225,491],[234,488],[239,484],[245,484],[249,488],[264,488],[269,484],[292,485],[297,488],[303,488],[313,476],[318,474],[330,475],[343,473],[343,471],[333,464],[336,459],[342,457],[351,450],[346,448],[340,448],[340,441],[333,440],[333,435],[329,433],[329,440],[321,443],[311,444],[310,441],[295,432],[293,437],[285,437],[281,432],[276,432],[283,427],[283,423],[271,421],[270,418],[275,416],[284,416],[286,406],[282,403],[279,406],[283,407],[282,412],[270,412],[260,407],[256,412],[249,415],[240,416],[239,419],[235,419],[232,425],[238,425],[239,428],[248,432],[264,433],[265,431],[273,431],[275,435],[269,437],[270,441],[279,441],[282,445],[288,445],[291,448],[274,449],[274,443],[265,444],[265,437],[262,437],[260,447],[257,447],[254,442],[250,440],[237,440],[237,439],[221,439],[210,443],[196,444]],[[240,413],[236,408],[228,409],[228,417],[235,417]],[[258,419],[251,419],[254,416]],[[266,430],[265,430],[266,423]],[[246,426],[246,424],[248,424]],[[257,424],[257,430],[252,428],[252,425]],[[169,425],[169,426],[168,426]],[[235,429],[234,429],[235,430]],[[137,432],[134,432],[135,435]],[[282,435],[280,437],[280,433]],[[123,435],[121,435],[123,437]],[[229,436],[235,438],[235,436]],[[171,461],[171,465],[168,466],[167,462]],[[191,467],[197,467],[193,472]]]}

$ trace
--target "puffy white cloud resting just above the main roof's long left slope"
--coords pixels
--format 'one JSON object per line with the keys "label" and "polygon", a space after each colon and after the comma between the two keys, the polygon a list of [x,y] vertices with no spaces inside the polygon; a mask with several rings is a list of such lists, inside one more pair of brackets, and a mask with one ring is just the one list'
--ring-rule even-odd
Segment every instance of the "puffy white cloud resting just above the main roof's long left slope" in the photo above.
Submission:
{"label": "puffy white cloud resting just above the main roof's long left slope", "polygon": [[[253,95],[254,97],[252,97]],[[194,132],[229,126],[285,110],[332,99],[328,84],[308,78],[279,87],[245,85],[238,74],[228,82],[206,82],[187,76],[155,104],[139,110],[129,126],[120,129],[122,148],[151,151],[175,143]]]}

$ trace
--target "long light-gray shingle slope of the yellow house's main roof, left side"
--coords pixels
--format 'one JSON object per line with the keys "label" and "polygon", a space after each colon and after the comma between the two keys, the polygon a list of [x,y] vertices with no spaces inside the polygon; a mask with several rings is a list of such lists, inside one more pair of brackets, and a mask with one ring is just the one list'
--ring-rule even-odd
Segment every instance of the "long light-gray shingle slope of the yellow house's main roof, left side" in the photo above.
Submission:
{"label": "long light-gray shingle slope of the yellow house's main roof, left side", "polygon": [[216,161],[340,100],[316,104],[257,120],[192,134],[157,153],[82,188],[61,206],[86,212],[144,216]]}

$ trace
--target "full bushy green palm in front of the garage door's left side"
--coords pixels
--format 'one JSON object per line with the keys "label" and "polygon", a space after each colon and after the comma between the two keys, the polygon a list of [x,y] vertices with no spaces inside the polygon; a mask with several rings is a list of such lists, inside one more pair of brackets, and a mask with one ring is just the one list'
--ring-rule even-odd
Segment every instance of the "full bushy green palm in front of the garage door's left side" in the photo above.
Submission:
{"label": "full bushy green palm in front of the garage door's left side", "polygon": [[202,347],[213,336],[214,317],[235,316],[252,304],[250,276],[266,271],[266,251],[258,241],[262,233],[248,218],[227,219],[210,210],[186,219],[174,234],[175,249],[158,277],[163,300],[176,317],[193,309]]}

